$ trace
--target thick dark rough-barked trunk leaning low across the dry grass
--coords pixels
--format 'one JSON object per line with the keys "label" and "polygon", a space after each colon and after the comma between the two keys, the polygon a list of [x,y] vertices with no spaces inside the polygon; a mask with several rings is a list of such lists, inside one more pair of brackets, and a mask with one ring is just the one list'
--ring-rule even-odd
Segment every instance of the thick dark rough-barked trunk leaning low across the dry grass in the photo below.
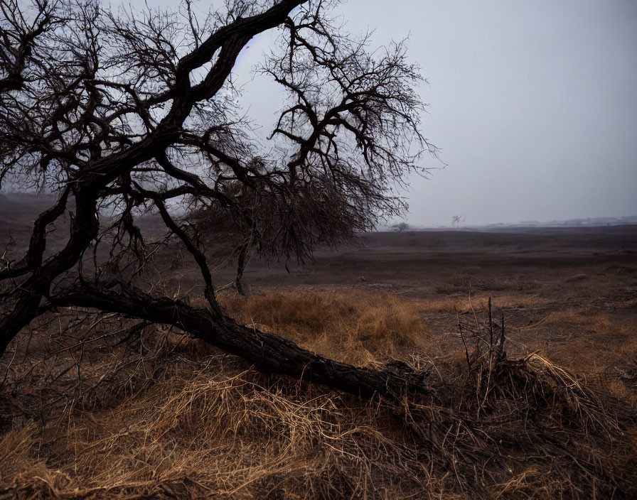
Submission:
{"label": "thick dark rough-barked trunk leaning low across the dry grass", "polygon": [[176,325],[268,373],[312,381],[362,398],[380,395],[397,400],[405,395],[429,393],[424,384],[427,373],[415,371],[405,363],[390,362],[382,369],[373,369],[338,362],[279,335],[239,325],[225,314],[215,315],[209,309],[193,308],[181,300],[154,298],[134,288],[122,287],[122,292],[116,293],[82,286],[55,298],[55,305],[97,308]]}

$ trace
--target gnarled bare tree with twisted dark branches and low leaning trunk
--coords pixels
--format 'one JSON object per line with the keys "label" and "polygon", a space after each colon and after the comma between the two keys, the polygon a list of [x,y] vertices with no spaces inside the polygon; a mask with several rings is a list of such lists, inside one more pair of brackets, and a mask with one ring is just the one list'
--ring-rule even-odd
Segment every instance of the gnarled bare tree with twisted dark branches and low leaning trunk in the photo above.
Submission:
{"label": "gnarled bare tree with twisted dark branches and low leaning trunk", "polygon": [[[239,234],[244,258],[302,259],[400,214],[392,188],[431,151],[403,43],[369,53],[368,36],[331,17],[336,0],[227,0],[207,16],[191,1],[119,13],[96,0],[0,4],[0,186],[58,193],[26,253],[1,263],[0,352],[39,315],[75,306],[173,324],[266,371],[362,396],[422,390],[403,364],[356,368],[237,324],[181,217],[212,211],[212,237]],[[235,105],[232,68],[275,28],[258,72],[288,97],[266,147]],[[65,245],[47,252],[66,212]],[[136,224],[146,212],[193,256],[207,307],[144,289],[156,248]]]}

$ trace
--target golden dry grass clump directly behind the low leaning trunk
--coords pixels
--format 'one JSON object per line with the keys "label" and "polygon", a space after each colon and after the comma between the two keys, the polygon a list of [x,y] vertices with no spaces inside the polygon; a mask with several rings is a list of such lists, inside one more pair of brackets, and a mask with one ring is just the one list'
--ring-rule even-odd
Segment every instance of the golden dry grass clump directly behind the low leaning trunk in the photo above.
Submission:
{"label": "golden dry grass clump directly behind the low leaning trunk", "polygon": [[351,364],[405,358],[430,345],[419,303],[397,296],[349,289],[223,299],[228,311],[247,325]]}

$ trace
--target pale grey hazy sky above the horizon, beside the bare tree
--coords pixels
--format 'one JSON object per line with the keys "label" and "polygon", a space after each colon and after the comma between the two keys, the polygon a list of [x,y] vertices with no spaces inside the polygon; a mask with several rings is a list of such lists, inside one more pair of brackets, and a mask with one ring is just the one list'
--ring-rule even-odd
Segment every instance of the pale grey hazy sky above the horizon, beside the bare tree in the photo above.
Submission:
{"label": "pale grey hazy sky above the horizon, beside the bare tree", "polygon": [[[409,222],[637,214],[637,1],[349,0],[338,13],[378,45],[409,36],[429,81],[424,133],[447,166],[412,178]],[[268,42],[252,40],[240,75]],[[246,87],[265,126],[276,95]]]}

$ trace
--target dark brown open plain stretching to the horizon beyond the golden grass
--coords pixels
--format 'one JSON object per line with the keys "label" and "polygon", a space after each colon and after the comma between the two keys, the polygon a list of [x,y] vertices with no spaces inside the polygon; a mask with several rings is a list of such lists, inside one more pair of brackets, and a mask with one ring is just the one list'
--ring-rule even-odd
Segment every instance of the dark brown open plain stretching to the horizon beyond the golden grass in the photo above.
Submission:
{"label": "dark brown open plain stretching to the horizon beyond the golden grass", "polygon": [[[0,198],[0,244],[11,235],[11,253],[18,256],[33,219],[50,202],[32,195]],[[140,225],[161,236],[154,217]],[[56,229],[51,250],[66,234]],[[215,285],[231,283],[235,261],[223,248],[208,250]],[[156,280],[168,289],[201,294],[195,263],[174,249],[158,253],[156,269]],[[623,351],[637,350],[637,226],[362,234],[353,244],[317,251],[304,266],[252,259],[244,281],[256,295],[356,288],[404,296],[422,302],[432,332],[451,339],[457,337],[456,312],[477,313],[491,297],[493,308],[505,312],[510,349],[540,349],[584,371],[622,364],[624,354],[632,355]],[[622,352],[608,349],[611,344]]]}

